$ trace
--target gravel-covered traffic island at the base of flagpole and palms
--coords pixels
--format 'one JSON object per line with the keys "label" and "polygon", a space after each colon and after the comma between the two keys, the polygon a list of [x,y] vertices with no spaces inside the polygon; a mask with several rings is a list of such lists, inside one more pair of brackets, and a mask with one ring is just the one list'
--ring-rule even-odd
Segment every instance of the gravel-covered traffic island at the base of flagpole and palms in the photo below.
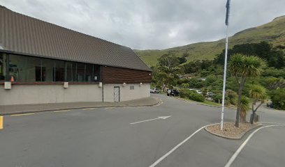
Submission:
{"label": "gravel-covered traffic island at the base of flagpole and palms", "polygon": [[225,122],[223,131],[221,131],[220,124],[207,126],[205,127],[205,130],[210,134],[214,134],[215,136],[220,136],[222,138],[241,139],[242,136],[251,129],[261,126],[261,123],[250,124],[248,122],[240,122],[240,127],[235,127],[234,122]]}

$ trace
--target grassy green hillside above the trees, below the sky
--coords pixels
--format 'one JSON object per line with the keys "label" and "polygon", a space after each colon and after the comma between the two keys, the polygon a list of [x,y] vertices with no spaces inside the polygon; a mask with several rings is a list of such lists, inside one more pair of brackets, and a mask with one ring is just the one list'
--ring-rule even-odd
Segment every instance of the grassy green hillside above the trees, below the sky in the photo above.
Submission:
{"label": "grassy green hillside above the trees, below the sky", "polygon": [[[277,17],[262,26],[257,26],[251,29],[246,29],[235,33],[230,40],[230,46],[244,44],[244,43],[257,43],[267,41],[272,45],[285,45],[285,16]],[[163,50],[134,50],[142,61],[147,65],[156,65],[157,58],[163,54],[175,54],[175,56],[182,56],[183,53],[188,53],[188,61],[213,59],[217,54],[225,48],[225,39],[217,40],[214,42],[198,42],[191,45],[182,47],[173,47]]]}

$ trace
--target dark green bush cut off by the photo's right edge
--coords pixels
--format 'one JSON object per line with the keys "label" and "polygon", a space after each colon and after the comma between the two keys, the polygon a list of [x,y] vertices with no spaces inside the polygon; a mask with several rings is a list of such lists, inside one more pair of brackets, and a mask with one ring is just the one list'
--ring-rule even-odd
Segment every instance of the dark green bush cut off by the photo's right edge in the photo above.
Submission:
{"label": "dark green bush cut off by the photo's right edge", "polygon": [[285,109],[285,88],[277,89],[270,93],[273,108]]}

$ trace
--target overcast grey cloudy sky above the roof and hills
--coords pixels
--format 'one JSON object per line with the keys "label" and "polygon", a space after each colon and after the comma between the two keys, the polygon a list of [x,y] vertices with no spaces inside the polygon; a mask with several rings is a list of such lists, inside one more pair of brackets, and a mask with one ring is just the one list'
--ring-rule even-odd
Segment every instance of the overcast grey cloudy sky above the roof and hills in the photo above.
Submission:
{"label": "overcast grey cloudy sky above the roof and hills", "polygon": [[[226,0],[0,0],[11,10],[132,49],[225,37]],[[284,0],[231,0],[229,33],[285,15]]]}

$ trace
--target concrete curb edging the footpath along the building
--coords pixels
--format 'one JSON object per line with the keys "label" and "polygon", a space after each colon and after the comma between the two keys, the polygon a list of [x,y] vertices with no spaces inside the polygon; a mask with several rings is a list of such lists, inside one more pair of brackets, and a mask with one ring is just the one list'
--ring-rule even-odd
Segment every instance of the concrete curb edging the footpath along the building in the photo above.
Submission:
{"label": "concrete curb edging the footpath along the building", "polygon": [[136,106],[156,106],[158,104],[161,103],[161,100],[159,100],[158,98],[155,98],[156,102],[153,104],[122,104],[122,105],[117,105],[117,106],[76,106],[76,107],[64,107],[64,108],[60,108],[60,109],[41,109],[41,110],[31,110],[31,111],[15,111],[13,113],[0,113],[0,116],[11,116],[11,115],[15,115],[15,114],[23,114],[23,113],[43,113],[43,112],[50,112],[50,111],[61,111],[61,110],[69,110],[69,109],[89,109],[89,108],[115,108],[115,107],[136,107]]}

